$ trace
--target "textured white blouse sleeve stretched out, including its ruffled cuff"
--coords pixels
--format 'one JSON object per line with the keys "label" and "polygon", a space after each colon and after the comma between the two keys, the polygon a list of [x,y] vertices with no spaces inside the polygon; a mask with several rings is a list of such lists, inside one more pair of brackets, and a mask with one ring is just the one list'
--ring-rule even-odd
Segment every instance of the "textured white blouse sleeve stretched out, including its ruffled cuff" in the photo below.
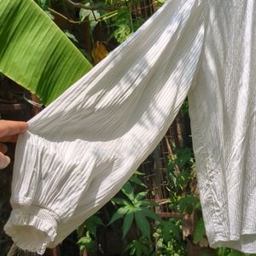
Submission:
{"label": "textured white blouse sleeve stretched out, including its ruffled cuff", "polygon": [[200,0],[169,1],[29,121],[5,225],[19,247],[54,247],[137,170],[187,96],[203,29]]}

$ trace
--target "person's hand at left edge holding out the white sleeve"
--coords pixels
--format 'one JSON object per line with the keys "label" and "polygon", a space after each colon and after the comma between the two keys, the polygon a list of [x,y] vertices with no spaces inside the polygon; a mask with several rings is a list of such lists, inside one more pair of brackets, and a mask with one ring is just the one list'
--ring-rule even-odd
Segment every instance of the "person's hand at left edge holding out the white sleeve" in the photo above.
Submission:
{"label": "person's hand at left edge holding out the white sleeve", "polygon": [[19,134],[27,130],[26,122],[0,120],[0,169],[9,165],[10,159],[5,155],[6,145],[3,143],[15,143]]}

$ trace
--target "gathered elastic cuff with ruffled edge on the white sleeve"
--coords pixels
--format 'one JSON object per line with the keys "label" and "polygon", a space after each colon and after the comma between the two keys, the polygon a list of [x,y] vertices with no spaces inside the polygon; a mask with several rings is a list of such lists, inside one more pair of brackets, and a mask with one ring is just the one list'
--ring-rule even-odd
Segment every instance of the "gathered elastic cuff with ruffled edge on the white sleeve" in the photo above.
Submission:
{"label": "gathered elastic cuff with ruffled edge on the white sleeve", "polygon": [[55,240],[58,218],[54,212],[34,206],[11,212],[5,232],[23,250],[43,254]]}

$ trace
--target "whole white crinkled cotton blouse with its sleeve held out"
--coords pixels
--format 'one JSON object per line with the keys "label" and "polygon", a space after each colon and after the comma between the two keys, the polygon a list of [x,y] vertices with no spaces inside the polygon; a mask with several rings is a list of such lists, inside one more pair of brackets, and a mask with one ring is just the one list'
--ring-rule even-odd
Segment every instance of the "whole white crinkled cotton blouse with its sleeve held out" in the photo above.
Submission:
{"label": "whole white crinkled cotton blouse with its sleeve held out", "polygon": [[5,231],[44,253],[127,181],[189,96],[212,247],[256,253],[256,5],[168,1],[29,121]]}

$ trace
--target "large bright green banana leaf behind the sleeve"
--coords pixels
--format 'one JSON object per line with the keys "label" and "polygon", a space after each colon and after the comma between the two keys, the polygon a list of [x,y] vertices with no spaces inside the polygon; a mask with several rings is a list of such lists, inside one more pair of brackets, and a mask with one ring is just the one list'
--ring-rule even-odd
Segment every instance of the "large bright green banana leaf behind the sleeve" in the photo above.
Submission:
{"label": "large bright green banana leaf behind the sleeve", "polygon": [[53,102],[91,68],[32,0],[0,0],[0,72]]}

